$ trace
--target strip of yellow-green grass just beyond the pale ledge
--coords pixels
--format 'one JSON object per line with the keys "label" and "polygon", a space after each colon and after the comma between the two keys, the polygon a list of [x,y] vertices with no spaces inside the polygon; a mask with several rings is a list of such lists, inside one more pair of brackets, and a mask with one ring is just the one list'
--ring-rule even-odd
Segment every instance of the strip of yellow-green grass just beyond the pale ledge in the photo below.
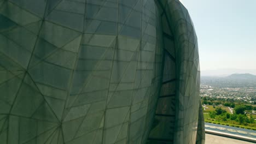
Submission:
{"label": "strip of yellow-green grass just beyond the pale ledge", "polygon": [[236,121],[231,121],[230,119],[228,119],[227,121],[219,121],[217,119],[213,119],[210,117],[210,115],[208,113],[203,113],[203,116],[205,117],[205,122],[207,122],[207,123],[222,124],[222,125],[228,125],[231,127],[256,130],[255,122],[253,124],[249,123],[247,125],[241,125]]}

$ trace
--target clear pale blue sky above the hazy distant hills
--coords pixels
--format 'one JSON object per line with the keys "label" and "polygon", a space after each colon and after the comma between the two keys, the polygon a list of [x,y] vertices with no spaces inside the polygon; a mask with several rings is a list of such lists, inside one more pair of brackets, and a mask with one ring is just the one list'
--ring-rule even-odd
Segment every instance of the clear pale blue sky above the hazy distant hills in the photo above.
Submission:
{"label": "clear pale blue sky above the hazy distant hills", "polygon": [[199,40],[201,70],[256,69],[256,0],[181,0]]}

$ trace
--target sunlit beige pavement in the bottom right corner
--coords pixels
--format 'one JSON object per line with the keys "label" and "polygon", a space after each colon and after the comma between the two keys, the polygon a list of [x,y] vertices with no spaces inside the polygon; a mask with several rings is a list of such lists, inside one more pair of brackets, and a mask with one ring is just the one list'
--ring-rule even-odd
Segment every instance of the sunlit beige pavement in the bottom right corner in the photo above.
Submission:
{"label": "sunlit beige pavement in the bottom right corner", "polygon": [[251,144],[252,142],[230,139],[228,137],[205,134],[205,144]]}

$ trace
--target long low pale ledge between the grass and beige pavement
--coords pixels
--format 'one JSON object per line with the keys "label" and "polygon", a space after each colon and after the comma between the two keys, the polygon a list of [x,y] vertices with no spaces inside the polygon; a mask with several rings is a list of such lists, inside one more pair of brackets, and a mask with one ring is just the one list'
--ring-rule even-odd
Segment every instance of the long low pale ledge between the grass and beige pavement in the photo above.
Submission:
{"label": "long low pale ledge between the grass and beige pavement", "polygon": [[222,132],[219,132],[219,131],[207,130],[207,129],[205,130],[205,133],[206,134],[212,134],[212,135],[218,135],[218,136],[224,136],[224,137],[230,137],[232,139],[237,139],[237,140],[243,140],[243,141],[256,143],[256,139],[254,139],[252,137],[247,137],[247,136],[222,133]]}

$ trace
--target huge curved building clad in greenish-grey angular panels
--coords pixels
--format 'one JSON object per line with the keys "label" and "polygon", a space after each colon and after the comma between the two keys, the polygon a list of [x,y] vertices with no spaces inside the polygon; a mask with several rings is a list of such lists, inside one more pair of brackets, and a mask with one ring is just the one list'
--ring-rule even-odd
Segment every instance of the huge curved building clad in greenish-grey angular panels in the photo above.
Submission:
{"label": "huge curved building clad in greenish-grey angular panels", "polygon": [[199,71],[179,1],[0,0],[1,143],[204,143]]}

